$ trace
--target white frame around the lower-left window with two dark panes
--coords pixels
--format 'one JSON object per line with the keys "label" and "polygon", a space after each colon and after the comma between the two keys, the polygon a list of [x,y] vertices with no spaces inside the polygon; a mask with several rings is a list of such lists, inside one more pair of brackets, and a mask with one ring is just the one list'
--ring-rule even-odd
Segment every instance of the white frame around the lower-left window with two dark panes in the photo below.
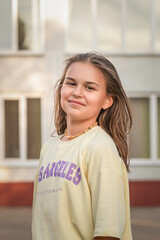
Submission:
{"label": "white frame around the lower-left window with two dark panes", "polygon": [[[0,167],[21,167],[37,166],[38,159],[27,159],[27,98],[40,98],[41,100],[41,143],[43,144],[46,139],[46,108],[45,97],[43,93],[26,93],[23,94],[0,94]],[[18,100],[19,101],[19,158],[6,158],[5,157],[5,116],[4,104],[5,100]]]}

